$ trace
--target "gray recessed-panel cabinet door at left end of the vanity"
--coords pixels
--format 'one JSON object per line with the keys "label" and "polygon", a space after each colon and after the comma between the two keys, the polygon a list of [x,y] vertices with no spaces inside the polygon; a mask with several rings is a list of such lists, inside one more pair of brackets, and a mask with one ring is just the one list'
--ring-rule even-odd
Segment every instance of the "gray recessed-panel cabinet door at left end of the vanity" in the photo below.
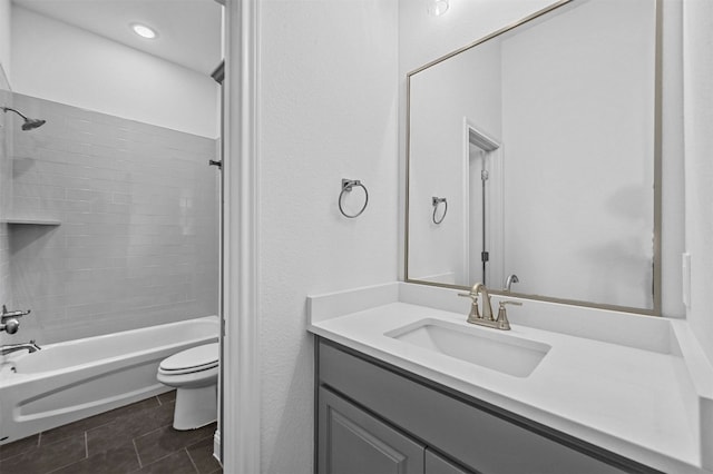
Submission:
{"label": "gray recessed-panel cabinet door at left end of the vanity", "polygon": [[423,445],[324,387],[319,397],[319,474],[423,474]]}

